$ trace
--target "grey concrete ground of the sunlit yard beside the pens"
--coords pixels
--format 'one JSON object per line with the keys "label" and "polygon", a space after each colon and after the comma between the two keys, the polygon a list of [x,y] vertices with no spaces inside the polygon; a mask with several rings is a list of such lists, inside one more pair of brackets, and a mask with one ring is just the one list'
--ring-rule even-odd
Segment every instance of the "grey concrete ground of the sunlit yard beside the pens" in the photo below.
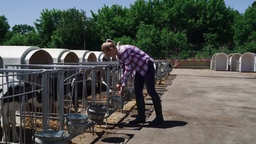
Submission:
{"label": "grey concrete ground of the sunlit yard beside the pens", "polygon": [[[174,69],[171,74],[177,76],[161,97],[162,125],[130,125],[129,116],[95,143],[256,143],[255,73]],[[153,112],[147,121],[154,117]]]}

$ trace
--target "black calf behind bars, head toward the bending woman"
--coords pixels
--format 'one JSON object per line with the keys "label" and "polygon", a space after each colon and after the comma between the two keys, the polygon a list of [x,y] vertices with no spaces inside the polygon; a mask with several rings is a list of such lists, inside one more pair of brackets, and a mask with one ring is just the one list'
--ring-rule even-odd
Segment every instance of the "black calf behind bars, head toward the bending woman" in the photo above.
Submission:
{"label": "black calf behind bars, head toward the bending woman", "polygon": [[[84,85],[83,85],[83,77],[82,76],[78,76],[77,80],[74,80],[73,82],[76,81],[81,81],[81,82],[77,82],[77,86],[72,85],[72,101],[73,101],[73,106],[74,106],[74,111],[75,113],[78,111],[78,99],[82,99],[83,98],[83,90],[85,93],[85,97],[89,97],[92,92],[91,92],[91,88],[92,88],[92,80],[85,80],[85,89],[84,89]],[[111,93],[112,91],[109,89],[109,93]],[[75,100],[75,93],[77,94],[77,100]],[[107,94],[107,83],[104,81],[96,81],[96,86],[95,86],[95,94],[99,94],[100,97],[101,95],[106,95]]]}

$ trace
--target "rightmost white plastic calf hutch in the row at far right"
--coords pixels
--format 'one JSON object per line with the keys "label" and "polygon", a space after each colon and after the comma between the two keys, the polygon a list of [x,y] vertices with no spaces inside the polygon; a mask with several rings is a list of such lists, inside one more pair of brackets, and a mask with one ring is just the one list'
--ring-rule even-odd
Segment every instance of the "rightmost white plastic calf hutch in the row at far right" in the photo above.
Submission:
{"label": "rightmost white plastic calf hutch in the row at far right", "polygon": [[243,53],[239,58],[239,70],[241,72],[253,72],[255,67],[255,56],[251,52]]}

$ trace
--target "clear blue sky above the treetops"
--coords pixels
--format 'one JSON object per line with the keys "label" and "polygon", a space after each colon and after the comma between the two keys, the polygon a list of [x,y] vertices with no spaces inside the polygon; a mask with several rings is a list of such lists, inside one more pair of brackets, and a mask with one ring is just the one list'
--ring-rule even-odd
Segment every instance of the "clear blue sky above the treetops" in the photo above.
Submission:
{"label": "clear blue sky above the treetops", "polygon": [[[119,4],[123,7],[130,7],[136,0],[1,0],[0,15],[7,17],[9,25],[27,24],[34,26],[33,22],[39,19],[40,12],[43,9],[83,9],[86,11],[86,16],[91,17],[90,10],[97,13],[97,10],[102,8],[104,4],[113,5]],[[245,13],[245,10],[251,5],[254,0],[224,0],[227,6],[238,10],[240,13]]]}

